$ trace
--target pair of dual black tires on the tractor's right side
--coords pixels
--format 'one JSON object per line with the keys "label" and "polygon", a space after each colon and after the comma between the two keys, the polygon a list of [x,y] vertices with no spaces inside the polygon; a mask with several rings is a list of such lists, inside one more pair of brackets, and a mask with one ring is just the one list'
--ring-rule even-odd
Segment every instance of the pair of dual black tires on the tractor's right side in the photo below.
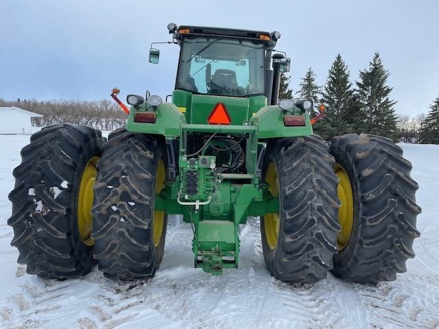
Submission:
{"label": "pair of dual black tires on the tractor's right side", "polygon": [[411,169],[380,136],[337,136],[331,147],[318,136],[270,143],[263,180],[280,210],[261,219],[261,235],[272,276],[315,282],[331,270],[353,282],[395,280],[419,236]]}

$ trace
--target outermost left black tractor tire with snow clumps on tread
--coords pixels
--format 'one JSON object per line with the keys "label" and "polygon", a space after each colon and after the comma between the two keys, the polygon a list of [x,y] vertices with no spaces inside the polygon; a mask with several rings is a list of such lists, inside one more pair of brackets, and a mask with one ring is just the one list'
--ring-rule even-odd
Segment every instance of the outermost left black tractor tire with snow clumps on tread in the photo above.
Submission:
{"label": "outermost left black tractor tire with snow clumps on tread", "polygon": [[17,261],[40,278],[84,276],[96,261],[88,239],[91,225],[88,236],[86,228],[80,232],[78,199],[83,173],[90,171],[94,182],[95,162],[102,152],[101,132],[54,125],[36,132],[30,141],[21,150],[22,162],[13,172],[15,188],[9,194],[8,225],[14,229],[11,245],[19,249]]}

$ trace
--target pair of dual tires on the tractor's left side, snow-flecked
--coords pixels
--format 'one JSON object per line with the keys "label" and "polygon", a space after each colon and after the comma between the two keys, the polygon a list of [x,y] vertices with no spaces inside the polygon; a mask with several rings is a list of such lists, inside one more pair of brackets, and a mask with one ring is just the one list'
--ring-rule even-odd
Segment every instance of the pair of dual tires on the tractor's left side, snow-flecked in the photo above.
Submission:
{"label": "pair of dual tires on the tractor's left side, snow-flecked", "polygon": [[55,125],[21,151],[8,225],[27,273],[79,278],[98,263],[112,279],[154,276],[166,234],[164,212],[154,212],[165,152],[143,134],[117,130],[109,139],[103,146],[91,127]]}

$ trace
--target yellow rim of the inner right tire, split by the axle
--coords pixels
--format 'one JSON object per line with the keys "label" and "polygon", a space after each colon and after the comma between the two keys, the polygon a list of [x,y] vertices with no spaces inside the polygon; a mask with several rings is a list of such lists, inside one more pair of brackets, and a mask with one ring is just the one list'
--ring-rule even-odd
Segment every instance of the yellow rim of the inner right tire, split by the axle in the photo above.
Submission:
{"label": "yellow rim of the inner right tire, split by the axle", "polygon": [[[279,197],[279,180],[274,162],[268,164],[267,173],[265,173],[265,182],[270,186],[268,191],[273,197]],[[265,239],[267,240],[268,247],[274,249],[277,245],[279,236],[279,225],[281,223],[281,217],[279,213],[265,214],[263,217],[263,226],[265,229]]]}

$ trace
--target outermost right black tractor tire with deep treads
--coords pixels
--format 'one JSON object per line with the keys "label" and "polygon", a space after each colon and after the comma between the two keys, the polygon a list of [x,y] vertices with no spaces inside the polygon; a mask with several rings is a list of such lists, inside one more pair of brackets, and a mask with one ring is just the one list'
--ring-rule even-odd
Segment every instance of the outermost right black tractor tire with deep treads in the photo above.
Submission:
{"label": "outermost right black tractor tire with deep treads", "polygon": [[[416,216],[421,210],[415,203],[418,184],[410,178],[412,164],[390,139],[367,134],[337,136],[330,152],[338,169],[344,170],[347,184],[351,183],[353,204],[348,240],[345,236],[345,244],[333,258],[334,275],[372,284],[395,280],[396,273],[406,271],[407,258],[414,257],[412,244],[420,235]],[[344,197],[340,199],[344,208]],[[349,198],[345,199],[348,206]]]}

